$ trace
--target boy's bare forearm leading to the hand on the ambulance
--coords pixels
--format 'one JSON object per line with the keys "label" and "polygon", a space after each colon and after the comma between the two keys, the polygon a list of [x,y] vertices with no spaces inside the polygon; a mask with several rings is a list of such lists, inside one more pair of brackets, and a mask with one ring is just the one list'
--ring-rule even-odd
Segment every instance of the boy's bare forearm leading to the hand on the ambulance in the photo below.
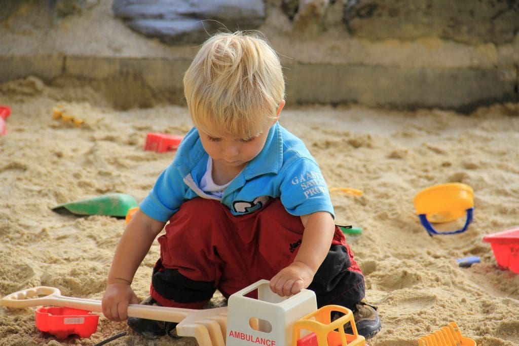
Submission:
{"label": "boy's bare forearm leading to the hand on the ambulance", "polygon": [[306,264],[315,274],[330,251],[335,224],[327,212],[302,217],[305,231],[294,262]]}

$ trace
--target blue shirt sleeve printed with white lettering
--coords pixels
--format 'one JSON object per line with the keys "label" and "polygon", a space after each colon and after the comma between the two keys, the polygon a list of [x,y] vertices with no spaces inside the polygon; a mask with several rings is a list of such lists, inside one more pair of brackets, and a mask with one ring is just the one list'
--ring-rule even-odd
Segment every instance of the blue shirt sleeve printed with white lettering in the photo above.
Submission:
{"label": "blue shirt sleeve printed with white lettering", "polygon": [[281,203],[292,215],[327,211],[335,218],[330,193],[321,169],[309,158],[299,158],[283,173]]}

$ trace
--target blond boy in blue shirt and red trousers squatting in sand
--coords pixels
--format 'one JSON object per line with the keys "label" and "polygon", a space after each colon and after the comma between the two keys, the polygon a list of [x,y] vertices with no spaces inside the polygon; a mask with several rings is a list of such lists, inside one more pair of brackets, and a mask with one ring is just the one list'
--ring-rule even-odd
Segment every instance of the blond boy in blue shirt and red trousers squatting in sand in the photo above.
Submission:
{"label": "blond boy in blue shirt and red trousers squatting in sand", "polygon": [[[280,296],[303,288],[319,307],[354,311],[359,334],[381,328],[364,303],[364,277],[343,233],[315,159],[278,118],[285,104],[276,52],[249,33],[220,33],[202,45],[184,76],[195,127],[122,234],[102,300],[126,320],[135,271],[155,237],[160,258],[144,304],[200,309],[260,279]],[[141,335],[170,334],[174,323],[130,317]]]}

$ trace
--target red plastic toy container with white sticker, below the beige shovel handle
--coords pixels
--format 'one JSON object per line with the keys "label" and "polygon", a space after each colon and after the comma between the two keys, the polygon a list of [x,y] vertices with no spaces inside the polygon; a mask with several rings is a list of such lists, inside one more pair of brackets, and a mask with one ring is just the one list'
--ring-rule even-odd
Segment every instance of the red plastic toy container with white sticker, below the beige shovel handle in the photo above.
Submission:
{"label": "red plastic toy container with white sticker, below the beige shovel handle", "polygon": [[98,322],[99,315],[85,310],[59,307],[36,309],[36,328],[58,339],[73,334],[88,338],[97,330]]}

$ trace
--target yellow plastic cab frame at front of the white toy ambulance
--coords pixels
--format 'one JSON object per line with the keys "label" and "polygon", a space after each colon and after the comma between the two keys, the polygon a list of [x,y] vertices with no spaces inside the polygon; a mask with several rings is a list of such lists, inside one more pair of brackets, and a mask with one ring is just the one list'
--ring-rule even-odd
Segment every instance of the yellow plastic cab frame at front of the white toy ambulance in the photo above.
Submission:
{"label": "yellow plastic cab frame at front of the white toy ambulance", "polygon": [[[342,312],[344,316],[331,321],[332,312]],[[344,325],[351,324],[353,334],[344,332]],[[302,330],[310,331],[301,337]],[[366,340],[357,332],[351,310],[340,305],[325,305],[294,323],[293,346],[364,346]]]}

